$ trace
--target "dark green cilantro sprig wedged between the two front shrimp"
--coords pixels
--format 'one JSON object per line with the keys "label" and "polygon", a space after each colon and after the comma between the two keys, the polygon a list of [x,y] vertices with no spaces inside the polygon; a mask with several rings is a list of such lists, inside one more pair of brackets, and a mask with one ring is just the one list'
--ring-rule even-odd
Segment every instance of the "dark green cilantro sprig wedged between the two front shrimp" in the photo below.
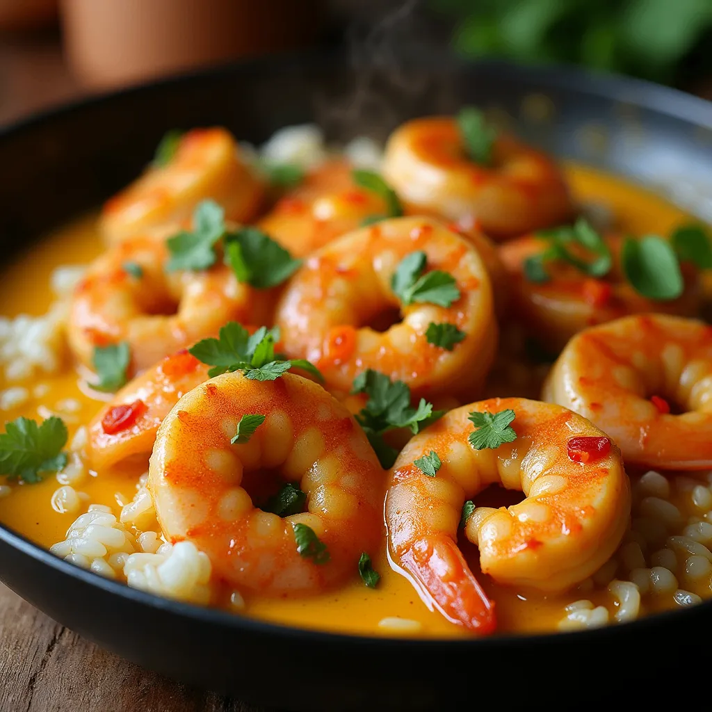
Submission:
{"label": "dark green cilantro sprig wedged between the two front shrimp", "polygon": [[434,411],[433,404],[424,398],[420,399],[417,408],[411,407],[410,389],[404,382],[392,382],[386,375],[371,369],[354,379],[351,392],[368,395],[365,407],[356,414],[356,420],[384,468],[391,467],[398,455],[398,451],[384,441],[384,433],[396,428],[409,428],[416,434],[444,414],[441,410]]}

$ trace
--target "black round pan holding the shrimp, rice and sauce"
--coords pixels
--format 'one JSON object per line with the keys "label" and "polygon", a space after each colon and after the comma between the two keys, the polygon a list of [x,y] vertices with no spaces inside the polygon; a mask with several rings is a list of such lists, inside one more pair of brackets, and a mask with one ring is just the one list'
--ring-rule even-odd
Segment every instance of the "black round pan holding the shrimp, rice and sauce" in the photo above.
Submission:
{"label": "black round pan holding the shrimp, rice and sauce", "polygon": [[[548,120],[522,117],[523,105],[541,105],[532,94],[551,101]],[[521,135],[557,155],[666,185],[688,202],[712,187],[712,105],[674,90],[574,70],[456,66],[439,58],[410,62],[397,82],[372,75],[364,85],[339,56],[271,58],[89,100],[5,130],[4,256],[135,177],[169,128],[225,125],[259,142],[281,126],[318,120],[340,139],[376,128],[383,135],[409,116],[465,103],[506,110]],[[706,208],[704,199],[689,205],[701,217]],[[346,637],[162,600],[58,560],[2,527],[0,580],[122,656],[266,706],[481,709],[492,700],[504,708],[588,708],[619,700],[625,689],[652,701],[656,690],[671,691],[664,680],[681,685],[689,702],[706,681],[693,678],[708,670],[696,641],[709,641],[712,602],[565,635]]]}

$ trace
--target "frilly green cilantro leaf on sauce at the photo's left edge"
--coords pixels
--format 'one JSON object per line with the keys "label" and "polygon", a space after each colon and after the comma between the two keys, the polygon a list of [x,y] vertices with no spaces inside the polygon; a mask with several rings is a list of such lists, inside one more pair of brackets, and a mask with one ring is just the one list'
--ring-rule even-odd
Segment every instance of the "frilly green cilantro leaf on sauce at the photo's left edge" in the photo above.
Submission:
{"label": "frilly green cilantro leaf on sauce at the photo's left edge", "polygon": [[67,464],[62,448],[67,442],[67,426],[52,416],[40,426],[29,418],[5,424],[0,434],[0,473],[27,484],[41,480],[41,472],[57,472]]}

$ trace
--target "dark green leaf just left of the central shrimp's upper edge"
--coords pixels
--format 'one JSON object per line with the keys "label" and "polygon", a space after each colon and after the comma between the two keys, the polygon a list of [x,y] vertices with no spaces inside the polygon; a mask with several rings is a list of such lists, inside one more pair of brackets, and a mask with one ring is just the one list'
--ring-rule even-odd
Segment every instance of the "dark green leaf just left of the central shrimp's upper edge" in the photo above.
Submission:
{"label": "dark green leaf just left of the central shrimp's upper edge", "polygon": [[225,258],[239,282],[258,289],[281,284],[302,263],[256,227],[228,233],[225,236]]}

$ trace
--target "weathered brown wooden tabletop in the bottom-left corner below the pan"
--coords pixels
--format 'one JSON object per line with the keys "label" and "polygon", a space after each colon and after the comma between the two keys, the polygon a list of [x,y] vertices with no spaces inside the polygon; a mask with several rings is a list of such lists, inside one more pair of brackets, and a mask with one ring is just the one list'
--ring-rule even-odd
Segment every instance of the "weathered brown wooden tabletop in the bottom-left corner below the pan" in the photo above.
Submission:
{"label": "weathered brown wooden tabletop in the bottom-left corner below the pan", "polygon": [[0,712],[256,712],[103,651],[0,584]]}

